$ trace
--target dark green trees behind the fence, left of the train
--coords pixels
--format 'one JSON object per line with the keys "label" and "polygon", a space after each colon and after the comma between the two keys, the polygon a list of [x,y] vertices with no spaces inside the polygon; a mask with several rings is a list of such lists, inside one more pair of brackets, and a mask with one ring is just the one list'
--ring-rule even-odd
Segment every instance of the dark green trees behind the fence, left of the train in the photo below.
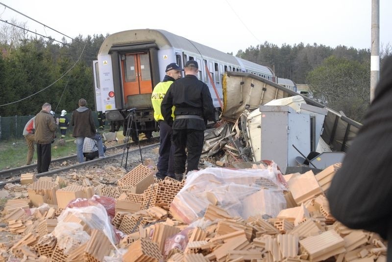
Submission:
{"label": "dark green trees behind the fence, left of the train", "polygon": [[79,35],[70,43],[63,38],[61,44],[1,27],[0,116],[35,115],[45,102],[55,113],[72,112],[80,98],[94,110],[92,61],[104,39],[102,34]]}

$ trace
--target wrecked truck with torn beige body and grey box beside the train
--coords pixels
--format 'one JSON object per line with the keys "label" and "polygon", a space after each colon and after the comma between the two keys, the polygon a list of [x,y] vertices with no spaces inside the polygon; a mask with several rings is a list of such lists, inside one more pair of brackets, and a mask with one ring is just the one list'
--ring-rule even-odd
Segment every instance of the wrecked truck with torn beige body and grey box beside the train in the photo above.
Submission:
{"label": "wrecked truck with torn beige body and grey box beside the train", "polygon": [[206,131],[202,153],[204,158],[214,156],[218,166],[274,161],[283,174],[293,166],[322,170],[342,162],[362,126],[250,73],[226,72],[222,92],[221,121]]}

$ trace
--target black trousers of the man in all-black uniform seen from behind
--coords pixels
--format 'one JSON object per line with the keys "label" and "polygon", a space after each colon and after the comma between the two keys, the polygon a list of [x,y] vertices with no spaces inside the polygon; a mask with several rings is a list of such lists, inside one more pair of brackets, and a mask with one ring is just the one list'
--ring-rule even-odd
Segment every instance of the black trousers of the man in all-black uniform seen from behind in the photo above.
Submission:
{"label": "black trousers of the man in all-black uniform seen from behind", "polygon": [[[187,173],[198,170],[201,151],[204,143],[204,131],[195,129],[173,129],[174,151],[174,173],[185,172],[185,161],[187,161]],[[188,150],[188,156],[185,152]]]}

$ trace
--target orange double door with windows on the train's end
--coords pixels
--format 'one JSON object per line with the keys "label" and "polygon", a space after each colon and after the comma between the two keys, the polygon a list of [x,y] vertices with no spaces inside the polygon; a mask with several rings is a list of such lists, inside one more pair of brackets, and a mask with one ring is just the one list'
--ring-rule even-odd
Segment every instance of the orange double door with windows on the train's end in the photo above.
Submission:
{"label": "orange double door with windows on the train's end", "polygon": [[152,93],[148,53],[125,54],[121,59],[124,104],[128,96]]}

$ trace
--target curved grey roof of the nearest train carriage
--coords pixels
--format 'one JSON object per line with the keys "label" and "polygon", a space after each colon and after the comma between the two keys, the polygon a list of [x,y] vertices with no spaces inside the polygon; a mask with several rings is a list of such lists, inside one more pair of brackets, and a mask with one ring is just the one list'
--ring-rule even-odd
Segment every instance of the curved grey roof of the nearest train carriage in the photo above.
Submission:
{"label": "curved grey roof of the nearest train carriage", "polygon": [[204,57],[240,66],[236,58],[232,55],[160,29],[136,29],[111,34],[104,40],[98,55],[108,54],[112,46],[146,42],[155,42],[159,49],[174,47],[175,49],[195,54],[199,54],[200,52]]}

